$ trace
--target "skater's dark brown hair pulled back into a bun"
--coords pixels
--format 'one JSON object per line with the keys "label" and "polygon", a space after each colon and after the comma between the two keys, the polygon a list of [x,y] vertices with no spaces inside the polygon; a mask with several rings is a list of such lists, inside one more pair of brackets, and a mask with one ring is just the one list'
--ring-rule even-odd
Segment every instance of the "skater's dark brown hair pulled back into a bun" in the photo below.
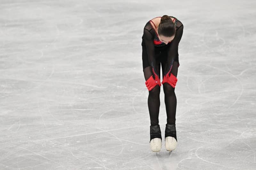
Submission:
{"label": "skater's dark brown hair pulled back into a bun", "polygon": [[176,33],[176,27],[172,19],[168,15],[163,15],[157,28],[158,35],[171,37]]}

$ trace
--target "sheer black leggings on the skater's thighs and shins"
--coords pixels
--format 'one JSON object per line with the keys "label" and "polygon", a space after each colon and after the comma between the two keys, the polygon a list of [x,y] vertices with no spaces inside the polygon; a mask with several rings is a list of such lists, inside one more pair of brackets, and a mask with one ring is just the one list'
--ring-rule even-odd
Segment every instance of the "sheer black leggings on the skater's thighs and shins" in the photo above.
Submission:
{"label": "sheer black leggings on the skater's thighs and shins", "polygon": [[[143,55],[143,54],[142,54]],[[158,60],[157,69],[159,70],[160,74],[160,63],[162,65],[162,79],[164,78],[164,69],[166,67],[166,52],[161,51],[157,52],[156,58]],[[147,80],[151,74],[151,67],[148,66],[143,69],[145,80]],[[171,73],[177,77],[178,74],[178,63],[174,61]],[[159,75],[160,76],[160,75]],[[160,76],[161,77],[161,76]],[[178,83],[178,82],[177,82]],[[176,106],[177,106],[177,99],[175,95],[175,88],[173,88],[168,83],[164,83],[164,103],[166,108],[166,115],[167,115],[167,123],[168,124],[175,124],[176,122]],[[148,93],[148,110],[150,116],[150,124],[157,125],[159,124],[158,116],[159,116],[159,107],[160,107],[160,86],[156,85],[151,91]]]}

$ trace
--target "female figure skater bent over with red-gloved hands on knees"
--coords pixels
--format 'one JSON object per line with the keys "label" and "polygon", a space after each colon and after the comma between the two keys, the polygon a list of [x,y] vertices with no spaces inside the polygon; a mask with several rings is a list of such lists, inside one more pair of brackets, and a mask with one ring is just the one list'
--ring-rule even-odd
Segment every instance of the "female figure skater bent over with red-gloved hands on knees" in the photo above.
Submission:
{"label": "female figure skater bent over with red-gloved hands on knees", "polygon": [[177,99],[175,86],[179,63],[178,46],[183,34],[183,24],[175,17],[164,15],[147,22],[142,36],[143,72],[148,88],[150,116],[150,149],[157,153],[162,147],[158,122],[160,107],[160,65],[162,65],[164,102],[167,115],[165,149],[170,152],[177,147],[175,115]]}

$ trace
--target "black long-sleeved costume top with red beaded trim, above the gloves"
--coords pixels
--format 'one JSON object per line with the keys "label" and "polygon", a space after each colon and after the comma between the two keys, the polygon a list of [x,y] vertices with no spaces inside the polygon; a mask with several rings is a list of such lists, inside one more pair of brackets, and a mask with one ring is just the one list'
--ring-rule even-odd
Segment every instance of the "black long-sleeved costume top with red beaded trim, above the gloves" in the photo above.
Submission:
{"label": "black long-sleeved costume top with red beaded trim, above the gloves", "polygon": [[[176,61],[178,63],[178,67],[180,65],[178,46],[183,34],[183,24],[177,18],[173,16],[170,17],[174,18],[173,22],[176,26],[176,34],[174,39],[172,41],[169,41],[167,45],[159,40],[158,35],[156,34],[156,31],[152,25],[154,23],[151,20],[148,21],[144,27],[141,43],[143,70],[146,67],[151,66],[151,73],[144,72],[144,74],[148,75],[149,77],[153,75],[154,79],[155,75],[160,78],[160,70],[158,70],[157,65],[160,63],[160,61],[164,61],[163,59],[165,59],[166,61],[166,64],[163,64],[165,68],[162,67],[163,76],[166,74],[171,74],[170,72],[172,70],[173,62]],[[161,55],[162,58],[159,58],[159,55]]]}

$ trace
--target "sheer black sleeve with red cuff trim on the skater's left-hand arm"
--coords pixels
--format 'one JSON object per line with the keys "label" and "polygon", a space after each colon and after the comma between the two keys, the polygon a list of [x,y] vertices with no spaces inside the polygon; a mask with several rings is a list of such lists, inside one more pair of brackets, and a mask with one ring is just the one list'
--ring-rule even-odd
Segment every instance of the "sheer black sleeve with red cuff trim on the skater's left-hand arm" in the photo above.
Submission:
{"label": "sheer black sleeve with red cuff trim on the skater's left-hand arm", "polygon": [[[147,29],[147,27],[144,28],[143,32],[143,40],[146,45],[147,49],[147,55],[148,55],[148,65],[151,67],[151,72],[148,74],[153,75],[153,78],[156,79],[160,78],[159,76],[159,71],[156,67],[156,58],[155,58],[155,47],[154,47],[154,40],[153,40],[153,35],[150,33],[150,30]],[[149,75],[149,77],[151,76]],[[148,77],[145,76],[145,77]]]}

